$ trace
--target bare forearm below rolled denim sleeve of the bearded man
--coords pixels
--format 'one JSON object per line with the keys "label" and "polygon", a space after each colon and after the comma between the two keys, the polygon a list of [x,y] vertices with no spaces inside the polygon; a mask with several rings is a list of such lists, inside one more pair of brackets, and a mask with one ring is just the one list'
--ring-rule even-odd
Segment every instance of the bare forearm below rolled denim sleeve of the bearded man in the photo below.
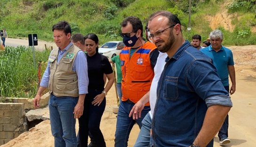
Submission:
{"label": "bare forearm below rolled denim sleeve of the bearded man", "polygon": [[231,107],[222,105],[212,105],[208,107],[203,126],[193,144],[206,147],[223,125],[224,119],[230,109]]}

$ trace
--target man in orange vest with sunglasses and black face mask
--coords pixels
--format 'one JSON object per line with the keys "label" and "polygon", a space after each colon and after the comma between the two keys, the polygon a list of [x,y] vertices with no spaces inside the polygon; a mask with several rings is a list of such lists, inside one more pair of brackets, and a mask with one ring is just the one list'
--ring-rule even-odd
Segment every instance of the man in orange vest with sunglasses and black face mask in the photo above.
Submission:
{"label": "man in orange vest with sunglasses and black face mask", "polygon": [[143,40],[143,26],[139,18],[125,18],[121,22],[121,31],[126,47],[120,53],[123,95],[117,115],[115,147],[128,146],[128,136],[133,125],[137,123],[141,128],[142,120],[150,110],[149,103],[146,103],[138,117],[129,117],[131,108],[149,95],[154,77],[153,69],[159,55],[155,44]]}

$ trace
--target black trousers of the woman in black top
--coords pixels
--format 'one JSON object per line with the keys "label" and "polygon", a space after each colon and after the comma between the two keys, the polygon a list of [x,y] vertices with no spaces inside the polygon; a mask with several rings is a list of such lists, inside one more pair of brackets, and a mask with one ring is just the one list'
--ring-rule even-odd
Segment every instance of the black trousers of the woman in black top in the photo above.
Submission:
{"label": "black trousers of the woman in black top", "polygon": [[99,106],[92,105],[94,97],[101,93],[102,90],[88,89],[88,94],[85,96],[83,115],[78,119],[80,147],[87,147],[88,132],[90,132],[97,147],[106,147],[103,134],[100,130],[100,122],[105,110],[106,98],[104,98]]}

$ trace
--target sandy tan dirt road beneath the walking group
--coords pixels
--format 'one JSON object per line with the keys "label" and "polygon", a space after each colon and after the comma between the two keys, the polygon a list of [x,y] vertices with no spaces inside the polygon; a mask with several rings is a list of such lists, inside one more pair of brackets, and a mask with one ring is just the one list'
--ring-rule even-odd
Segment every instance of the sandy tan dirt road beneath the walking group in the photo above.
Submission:
{"label": "sandy tan dirt road beneath the walking group", "polygon": [[[236,92],[231,96],[233,107],[229,113],[229,138],[231,143],[219,145],[215,137],[214,147],[255,147],[256,146],[256,46],[232,46],[236,69]],[[108,92],[107,105],[101,121],[101,130],[107,147],[114,147],[116,106],[114,87]],[[133,147],[139,132],[134,126],[130,133],[128,147]],[[44,121],[1,147],[53,147],[49,121]]]}

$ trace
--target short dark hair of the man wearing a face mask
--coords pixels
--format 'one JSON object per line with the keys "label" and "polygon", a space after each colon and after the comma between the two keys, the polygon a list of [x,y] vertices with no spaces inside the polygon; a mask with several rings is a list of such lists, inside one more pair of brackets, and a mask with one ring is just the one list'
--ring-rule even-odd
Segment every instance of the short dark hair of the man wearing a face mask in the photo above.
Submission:
{"label": "short dark hair of the man wearing a face mask", "polygon": [[137,30],[141,30],[141,37],[143,37],[143,25],[141,20],[138,17],[135,16],[128,16],[126,17],[123,22],[121,22],[121,27],[126,27],[128,22],[132,25],[132,31],[136,32]]}

